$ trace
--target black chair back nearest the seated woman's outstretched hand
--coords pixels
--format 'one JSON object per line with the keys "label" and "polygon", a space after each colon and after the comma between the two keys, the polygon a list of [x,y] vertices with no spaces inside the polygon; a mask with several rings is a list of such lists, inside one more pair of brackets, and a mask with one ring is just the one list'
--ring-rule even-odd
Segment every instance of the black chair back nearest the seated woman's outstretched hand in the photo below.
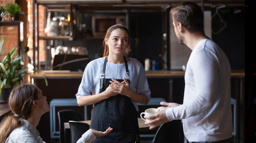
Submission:
{"label": "black chair back nearest the seated woman's outstretched hand", "polygon": [[76,143],[82,135],[90,129],[90,125],[79,121],[69,121],[71,143]]}

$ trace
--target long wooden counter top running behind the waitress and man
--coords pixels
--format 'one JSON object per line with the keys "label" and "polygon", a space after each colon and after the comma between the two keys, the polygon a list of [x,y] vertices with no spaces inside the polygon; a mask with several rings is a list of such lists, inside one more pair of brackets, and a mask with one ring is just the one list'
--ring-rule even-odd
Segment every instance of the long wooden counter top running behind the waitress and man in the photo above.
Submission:
{"label": "long wooden counter top running behind the waitress and man", "polygon": [[[183,77],[184,71],[146,71],[146,76],[148,78],[174,78]],[[47,78],[61,78],[61,79],[81,79],[83,72],[78,71],[41,71],[40,73],[31,73],[31,78],[42,79],[43,76]],[[234,78],[244,78],[245,71],[232,71],[231,77]]]}

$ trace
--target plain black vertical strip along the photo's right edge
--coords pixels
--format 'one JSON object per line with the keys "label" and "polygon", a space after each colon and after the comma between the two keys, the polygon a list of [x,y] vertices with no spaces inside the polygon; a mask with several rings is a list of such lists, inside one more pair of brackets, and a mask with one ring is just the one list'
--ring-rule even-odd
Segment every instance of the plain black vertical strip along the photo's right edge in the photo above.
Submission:
{"label": "plain black vertical strip along the photo's right edge", "polygon": [[[255,13],[253,6],[253,1],[245,1],[245,13],[248,16],[246,19],[246,30],[253,32],[255,24],[252,22],[251,14]],[[253,43],[253,33],[246,36],[246,45],[249,46],[249,43]],[[250,44],[250,46],[253,44]],[[254,56],[255,49],[247,48],[245,57],[246,66],[245,66],[245,142],[251,142],[256,140],[256,56]]]}

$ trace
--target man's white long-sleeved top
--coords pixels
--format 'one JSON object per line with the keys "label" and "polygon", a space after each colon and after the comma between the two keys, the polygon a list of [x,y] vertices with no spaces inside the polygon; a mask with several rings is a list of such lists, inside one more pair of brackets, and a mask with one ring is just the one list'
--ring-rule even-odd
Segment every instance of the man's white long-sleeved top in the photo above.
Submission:
{"label": "man's white long-sleeved top", "polygon": [[230,73],[222,49],[212,40],[201,40],[187,62],[183,104],[166,110],[170,121],[182,119],[188,141],[232,137]]}

